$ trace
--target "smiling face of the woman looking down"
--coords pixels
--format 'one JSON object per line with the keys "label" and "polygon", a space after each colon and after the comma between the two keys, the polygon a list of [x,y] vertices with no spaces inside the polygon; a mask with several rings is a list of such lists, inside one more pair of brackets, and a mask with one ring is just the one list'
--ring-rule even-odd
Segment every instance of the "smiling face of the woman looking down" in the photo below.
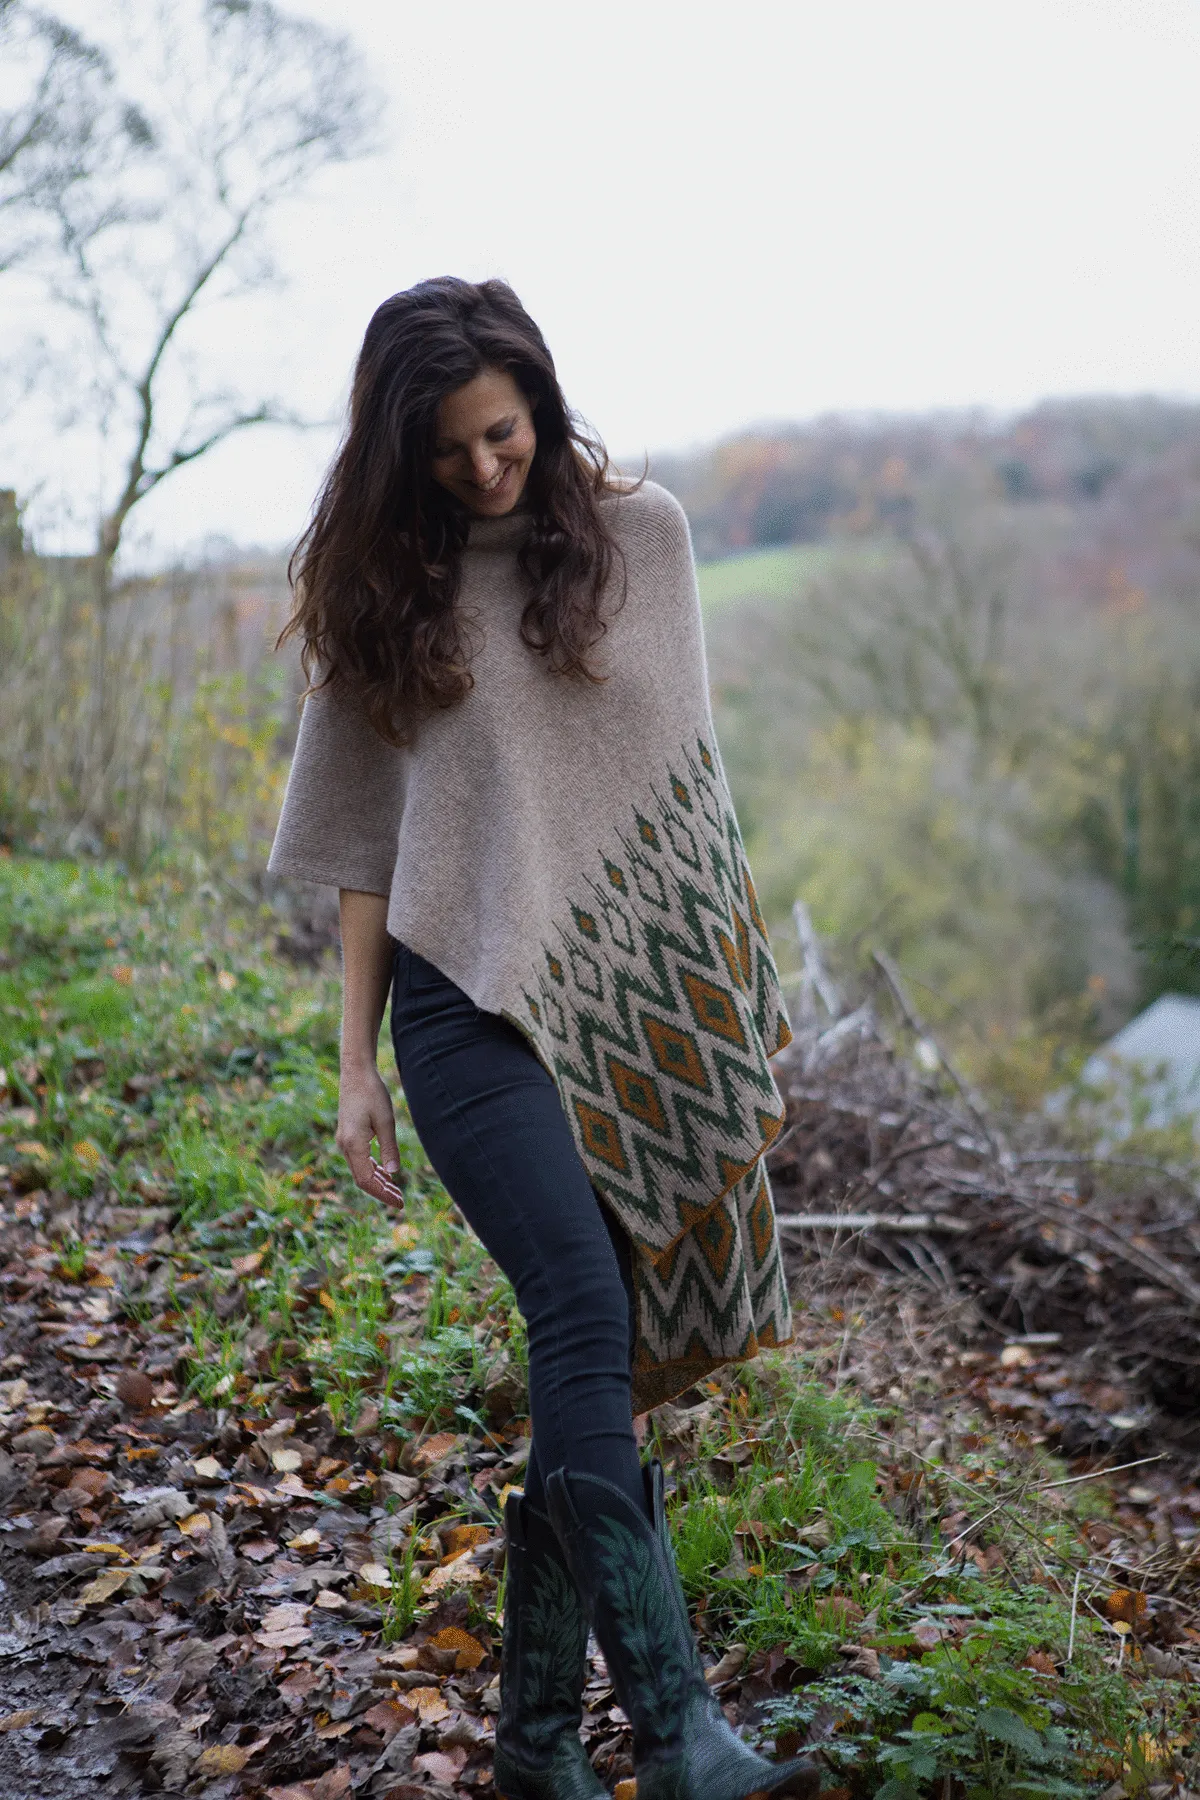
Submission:
{"label": "smiling face of the woman looking down", "polygon": [[484,369],[437,409],[434,481],[471,513],[500,518],[522,497],[538,434],[507,369]]}

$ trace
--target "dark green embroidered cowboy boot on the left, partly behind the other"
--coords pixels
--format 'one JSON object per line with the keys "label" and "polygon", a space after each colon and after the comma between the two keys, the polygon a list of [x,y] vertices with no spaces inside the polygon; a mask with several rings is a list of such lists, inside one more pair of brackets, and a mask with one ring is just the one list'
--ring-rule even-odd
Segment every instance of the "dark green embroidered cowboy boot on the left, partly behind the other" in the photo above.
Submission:
{"label": "dark green embroidered cowboy boot on the left, partly behind the other", "polygon": [[495,1787],[504,1800],[608,1800],[579,1742],[588,1620],[551,1521],[504,1508],[507,1577]]}

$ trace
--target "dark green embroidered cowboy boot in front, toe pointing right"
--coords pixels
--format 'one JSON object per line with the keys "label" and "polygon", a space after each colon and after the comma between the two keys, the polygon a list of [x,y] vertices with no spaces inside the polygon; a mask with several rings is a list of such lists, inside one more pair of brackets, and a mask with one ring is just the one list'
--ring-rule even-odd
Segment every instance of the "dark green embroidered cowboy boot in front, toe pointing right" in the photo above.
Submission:
{"label": "dark green embroidered cowboy boot in front, toe pointing right", "polygon": [[759,1757],[738,1737],[703,1679],[658,1463],[646,1471],[646,1489],[653,1525],[621,1489],[597,1476],[560,1469],[547,1481],[554,1530],[633,1728],[637,1800],[815,1795],[817,1766],[808,1757]]}

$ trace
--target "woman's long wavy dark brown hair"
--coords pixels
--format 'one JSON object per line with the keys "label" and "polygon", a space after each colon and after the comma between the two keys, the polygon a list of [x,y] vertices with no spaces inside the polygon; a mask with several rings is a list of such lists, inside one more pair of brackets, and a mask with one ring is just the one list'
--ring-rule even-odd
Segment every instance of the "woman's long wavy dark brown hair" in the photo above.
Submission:
{"label": "woman's long wavy dark brown hair", "polygon": [[288,565],[293,608],[279,637],[300,639],[309,693],[347,689],[389,743],[408,743],[423,715],[471,688],[455,608],[471,515],[434,481],[432,452],[443,398],[484,369],[506,369],[534,407],[522,637],[556,673],[597,679],[588,652],[619,556],[599,508],[615,486],[608,454],[567,407],[507,283],[421,281],[367,326],[345,437]]}

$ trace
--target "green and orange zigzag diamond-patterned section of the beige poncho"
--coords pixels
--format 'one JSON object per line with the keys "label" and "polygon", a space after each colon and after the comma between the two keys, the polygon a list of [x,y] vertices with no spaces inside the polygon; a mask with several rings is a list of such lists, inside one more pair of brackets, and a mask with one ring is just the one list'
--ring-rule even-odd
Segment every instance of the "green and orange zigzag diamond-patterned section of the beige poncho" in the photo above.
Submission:
{"label": "green and orange zigzag diamond-patterned section of the beige poncho", "polygon": [[635,1247],[639,1409],[792,1336],[763,1152],[792,1031],[723,770],[702,740],[572,896],[520,1021]]}

